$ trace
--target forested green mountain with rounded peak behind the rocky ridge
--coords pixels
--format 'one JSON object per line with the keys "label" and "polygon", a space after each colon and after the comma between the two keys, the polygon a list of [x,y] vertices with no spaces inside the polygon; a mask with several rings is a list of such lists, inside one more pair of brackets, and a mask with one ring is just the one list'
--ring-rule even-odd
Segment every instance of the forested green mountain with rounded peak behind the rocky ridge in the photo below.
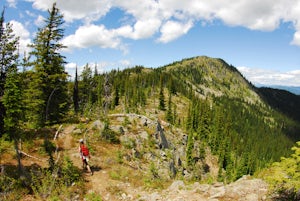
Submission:
{"label": "forested green mountain with rounded peak behind the rocky ridge", "polygon": [[[195,57],[156,69],[91,72],[86,66],[79,82],[81,111],[105,106],[106,113],[142,114],[183,129],[187,141],[180,160],[196,178],[205,172],[206,148],[219,159],[219,179],[232,181],[288,154],[299,136],[295,122],[272,110],[221,59]],[[199,165],[203,171],[196,173]]]}

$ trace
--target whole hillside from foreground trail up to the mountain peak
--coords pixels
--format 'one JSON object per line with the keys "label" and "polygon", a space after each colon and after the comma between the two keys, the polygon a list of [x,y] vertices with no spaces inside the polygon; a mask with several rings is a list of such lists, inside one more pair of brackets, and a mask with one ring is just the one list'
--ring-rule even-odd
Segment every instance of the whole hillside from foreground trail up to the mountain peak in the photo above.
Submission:
{"label": "whole hillside from foreground trail up to the mountain peak", "polygon": [[[60,194],[52,187],[56,179],[39,174],[45,180],[39,185],[45,188],[26,184],[30,190],[24,194],[29,191],[43,199],[180,200],[173,196],[180,192],[203,200],[228,200],[235,194],[233,186],[243,184],[248,192],[234,199],[266,198],[266,184],[244,175],[289,155],[299,140],[299,124],[289,113],[274,110],[221,59],[195,57],[156,69],[137,66],[105,74],[93,74],[87,65],[69,89],[77,91],[73,100],[78,100],[78,111],[69,104],[61,129],[60,124],[24,127],[21,135],[22,151],[43,158],[40,162],[23,156],[25,169],[47,170],[49,157],[52,174],[57,170],[64,181],[57,186],[68,188]],[[53,139],[56,132],[59,137]],[[80,173],[80,138],[91,149],[92,177]],[[1,164],[9,170],[16,162],[6,150],[1,145]],[[251,189],[251,182],[261,189]]]}

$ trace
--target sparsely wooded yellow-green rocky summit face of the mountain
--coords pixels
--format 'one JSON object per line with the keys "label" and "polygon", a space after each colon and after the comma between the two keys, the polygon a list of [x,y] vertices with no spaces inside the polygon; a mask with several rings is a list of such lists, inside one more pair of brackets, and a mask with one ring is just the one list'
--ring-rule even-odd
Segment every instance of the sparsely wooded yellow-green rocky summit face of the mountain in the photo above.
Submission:
{"label": "sparsely wooded yellow-green rocky summit face of the mountain", "polygon": [[226,96],[248,103],[261,102],[253,86],[235,67],[222,59],[195,57],[172,63],[163,69],[178,81],[191,85],[202,98]]}

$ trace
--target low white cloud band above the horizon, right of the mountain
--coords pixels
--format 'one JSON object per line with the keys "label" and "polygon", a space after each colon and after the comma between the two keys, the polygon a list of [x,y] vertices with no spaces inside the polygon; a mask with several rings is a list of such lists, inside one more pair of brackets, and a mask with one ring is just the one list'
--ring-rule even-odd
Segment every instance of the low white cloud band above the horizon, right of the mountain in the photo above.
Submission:
{"label": "low white cloud band above the horizon, right of the mountain", "polygon": [[254,84],[300,86],[300,70],[278,72],[249,67],[237,69]]}

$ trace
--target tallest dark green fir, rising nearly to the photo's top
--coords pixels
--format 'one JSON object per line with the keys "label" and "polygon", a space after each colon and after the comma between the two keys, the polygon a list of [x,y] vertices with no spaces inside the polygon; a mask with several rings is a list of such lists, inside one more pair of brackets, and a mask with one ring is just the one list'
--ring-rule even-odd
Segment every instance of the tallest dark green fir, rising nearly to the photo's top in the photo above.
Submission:
{"label": "tallest dark green fir, rising nearly to the photo's top", "polygon": [[[39,126],[60,121],[67,110],[67,73],[64,68],[65,57],[60,54],[60,51],[65,48],[60,43],[64,33],[64,29],[61,28],[64,21],[55,3],[48,13],[46,25],[38,30],[31,45],[33,51],[30,53],[35,58],[32,63],[35,72],[32,82],[36,84],[32,85],[37,86],[40,83],[38,95],[33,94],[34,99],[38,99],[35,101],[38,101],[41,107]],[[29,97],[29,99],[33,98]],[[35,112],[35,110],[29,111],[30,115],[37,116]]]}

